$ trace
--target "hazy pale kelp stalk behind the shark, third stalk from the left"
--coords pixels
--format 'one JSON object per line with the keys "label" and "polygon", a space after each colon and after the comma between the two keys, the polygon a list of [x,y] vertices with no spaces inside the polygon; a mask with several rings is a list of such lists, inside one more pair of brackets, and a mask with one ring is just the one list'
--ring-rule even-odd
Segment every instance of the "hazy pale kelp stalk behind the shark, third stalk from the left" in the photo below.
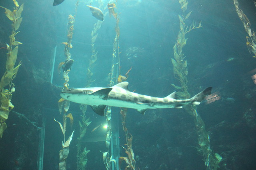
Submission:
{"label": "hazy pale kelp stalk behind the shark, third stalk from the left", "polygon": [[[100,6],[99,8],[102,8],[103,6],[103,2],[101,0],[98,1]],[[106,7],[104,8],[106,9]],[[92,55],[89,61],[89,66],[87,68],[87,84],[86,87],[90,87],[91,83],[94,81],[92,80],[92,75],[93,75],[93,68],[95,66],[95,62],[97,61],[98,57],[98,51],[96,50],[95,47],[95,42],[96,42],[96,38],[98,37],[98,30],[101,28],[102,25],[102,21],[98,20],[95,24],[94,24],[94,28],[92,30],[91,33],[91,43],[92,43]],[[82,111],[83,115],[82,115],[82,122],[79,121],[79,126],[80,126],[80,136],[78,137],[78,144],[77,144],[77,170],[85,170],[86,169],[86,164],[88,161],[87,158],[87,154],[88,152],[90,152],[90,150],[86,149],[86,146],[82,146],[82,139],[84,138],[85,134],[86,134],[86,130],[87,127],[90,125],[91,121],[89,121],[90,119],[86,119],[86,110],[87,110],[87,105],[80,105],[80,110]],[[84,148],[84,149],[82,149]]]}

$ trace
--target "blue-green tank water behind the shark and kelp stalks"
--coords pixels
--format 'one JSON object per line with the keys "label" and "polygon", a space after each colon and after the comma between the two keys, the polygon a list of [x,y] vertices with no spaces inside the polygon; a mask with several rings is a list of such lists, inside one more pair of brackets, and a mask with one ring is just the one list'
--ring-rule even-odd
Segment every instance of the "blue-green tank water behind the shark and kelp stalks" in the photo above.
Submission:
{"label": "blue-green tank water behind the shark and kelp stalks", "polygon": [[[16,40],[19,45],[17,61],[22,60],[18,75],[14,79],[16,91],[12,96],[13,111],[25,115],[42,127],[46,117],[44,146],[44,170],[58,169],[59,151],[63,135],[58,123],[62,122],[58,112],[59,93],[65,82],[63,71],[58,73],[58,64],[65,61],[64,44],[67,41],[68,15],[75,14],[76,0],[65,0],[53,7],[53,0],[19,0],[24,3],[22,24]],[[239,0],[240,8],[256,30],[256,7],[252,0]],[[70,88],[85,87],[88,77],[91,51],[91,32],[98,21],[86,5],[99,7],[98,1],[80,0],[74,24],[70,49],[74,63],[69,77]],[[104,16],[97,31],[95,47],[97,61],[92,69],[92,87],[108,87],[108,74],[112,67],[113,42],[116,36],[116,20],[109,17],[108,2],[102,0]],[[12,0],[1,0],[0,6],[13,9]],[[127,81],[130,91],[165,97],[178,91],[171,84],[180,86],[174,77],[171,58],[173,46],[180,30],[178,15],[182,10],[178,0],[119,0],[120,17],[119,50],[121,75],[132,67]],[[105,9],[104,9],[105,8]],[[116,10],[116,9],[115,9]],[[256,87],[252,76],[256,58],[246,46],[243,23],[236,13],[233,0],[190,0],[186,14],[192,11],[186,24],[202,28],[186,34],[183,48],[188,63],[188,91],[195,95],[207,87],[222,99],[207,104],[202,102],[197,111],[205,123],[211,149],[222,156],[220,170],[253,170],[256,168]],[[4,74],[6,43],[9,43],[11,22],[0,9],[0,76]],[[54,49],[56,58],[52,72]],[[50,83],[53,74],[52,84]],[[59,88],[60,87],[60,88]],[[120,108],[112,108],[112,117],[119,125],[120,156],[127,156]],[[70,104],[74,117],[71,128],[68,120],[66,136],[75,130],[70,143],[67,169],[75,170],[76,144],[82,115],[79,105]],[[89,107],[86,117],[92,121],[82,142],[87,146],[87,170],[106,169],[102,152],[106,152],[104,138],[106,130],[94,127],[104,124],[106,119],[96,115]],[[38,162],[39,130],[12,111],[6,120],[8,128],[0,140],[0,170],[36,170]],[[140,170],[204,170],[204,157],[198,152],[196,127],[192,116],[185,109],[152,109],[140,115],[128,109],[126,127],[133,136],[132,148],[136,157],[136,169]],[[103,136],[103,137],[102,137]],[[95,139],[96,138],[96,139]],[[102,139],[103,138],[103,139]],[[93,142],[100,140],[100,142]],[[118,162],[118,161],[117,161]],[[125,162],[120,167],[125,168]]]}

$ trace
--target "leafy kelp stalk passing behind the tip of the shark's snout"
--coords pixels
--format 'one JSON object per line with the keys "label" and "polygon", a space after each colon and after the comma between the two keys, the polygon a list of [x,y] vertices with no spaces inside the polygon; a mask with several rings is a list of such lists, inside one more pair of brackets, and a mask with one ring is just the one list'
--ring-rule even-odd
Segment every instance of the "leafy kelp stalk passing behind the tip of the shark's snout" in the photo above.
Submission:
{"label": "leafy kelp stalk passing behind the tip of the shark's snout", "polygon": [[[64,55],[66,57],[65,62],[60,63],[59,65],[63,65],[63,78],[65,79],[65,83],[64,83],[64,87],[63,90],[67,90],[69,87],[68,81],[69,81],[69,77],[68,77],[68,73],[70,71],[70,67],[73,64],[73,59],[71,59],[71,53],[70,53],[70,48],[72,48],[72,38],[73,38],[73,31],[74,31],[74,23],[75,23],[75,17],[76,17],[76,12],[77,12],[77,7],[78,7],[78,2],[76,2],[76,8],[75,8],[75,16],[69,15],[68,16],[68,26],[69,26],[69,30],[68,30],[68,35],[67,35],[67,42],[63,42],[63,44],[65,44],[64,47]],[[62,150],[60,150],[59,156],[60,156],[60,163],[59,163],[59,170],[66,170],[66,161],[67,161],[67,157],[69,154],[69,145],[70,142],[72,140],[73,137],[73,133],[68,137],[68,140],[66,140],[66,126],[67,126],[67,118],[70,119],[70,126],[72,126],[73,124],[73,116],[71,113],[67,114],[68,110],[69,110],[69,104],[70,101],[64,100],[63,98],[61,98],[58,101],[58,107],[59,107],[59,112],[60,114],[62,114],[62,118],[63,118],[63,126],[60,122],[56,121],[54,119],[54,121],[58,122],[60,125],[60,128],[62,130],[62,134],[64,135],[64,142],[62,142]]]}

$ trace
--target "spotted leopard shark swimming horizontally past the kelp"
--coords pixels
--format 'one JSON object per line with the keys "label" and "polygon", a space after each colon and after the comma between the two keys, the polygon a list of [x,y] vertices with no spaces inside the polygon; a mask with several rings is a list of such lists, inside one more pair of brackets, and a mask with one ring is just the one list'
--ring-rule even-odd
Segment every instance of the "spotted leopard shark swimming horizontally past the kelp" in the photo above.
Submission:
{"label": "spotted leopard shark swimming horizontally past the kelp", "polygon": [[142,115],[147,109],[182,108],[183,105],[199,105],[212,87],[208,87],[190,99],[177,99],[175,92],[160,98],[141,95],[128,90],[128,82],[124,81],[112,87],[87,87],[65,89],[60,93],[63,99],[75,103],[90,105],[95,113],[104,116],[106,106],[136,109]]}

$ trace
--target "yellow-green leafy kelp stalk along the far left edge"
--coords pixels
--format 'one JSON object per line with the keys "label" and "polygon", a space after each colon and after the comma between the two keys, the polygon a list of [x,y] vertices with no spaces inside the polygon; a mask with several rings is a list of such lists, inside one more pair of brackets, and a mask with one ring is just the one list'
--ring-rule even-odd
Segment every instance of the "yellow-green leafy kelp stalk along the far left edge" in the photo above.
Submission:
{"label": "yellow-green leafy kelp stalk along the far left edge", "polygon": [[[5,14],[9,20],[12,21],[12,34],[10,35],[10,43],[6,44],[8,50],[7,60],[6,60],[6,71],[0,81],[0,139],[3,136],[4,130],[7,128],[5,123],[8,119],[9,112],[14,108],[12,105],[12,93],[15,91],[13,79],[16,77],[18,69],[21,65],[19,64],[14,67],[18,55],[18,45],[22,44],[15,40],[16,34],[19,33],[18,29],[22,22],[21,13],[23,11],[23,4],[19,6],[16,0],[14,2],[14,10],[11,11],[7,8],[0,6],[5,9]],[[5,87],[7,89],[5,89]]]}

